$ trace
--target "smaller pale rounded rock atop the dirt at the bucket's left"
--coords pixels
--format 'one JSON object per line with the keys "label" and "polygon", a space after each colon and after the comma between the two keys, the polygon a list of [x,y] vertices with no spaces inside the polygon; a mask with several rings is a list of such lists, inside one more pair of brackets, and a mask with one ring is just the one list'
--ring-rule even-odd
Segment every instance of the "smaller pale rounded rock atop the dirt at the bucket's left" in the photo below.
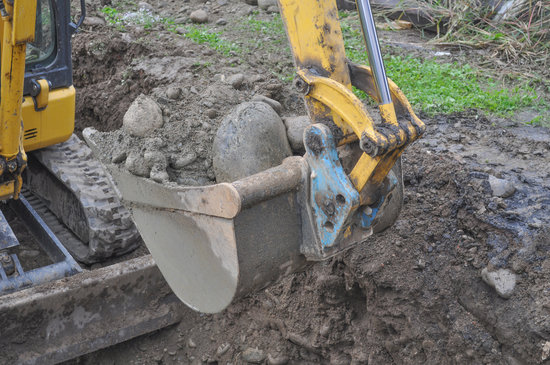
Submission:
{"label": "smaller pale rounded rock atop the dirt at the bucket's left", "polygon": [[159,105],[143,94],[134,100],[122,119],[124,130],[137,137],[149,136],[155,129],[162,127],[163,124],[162,110]]}

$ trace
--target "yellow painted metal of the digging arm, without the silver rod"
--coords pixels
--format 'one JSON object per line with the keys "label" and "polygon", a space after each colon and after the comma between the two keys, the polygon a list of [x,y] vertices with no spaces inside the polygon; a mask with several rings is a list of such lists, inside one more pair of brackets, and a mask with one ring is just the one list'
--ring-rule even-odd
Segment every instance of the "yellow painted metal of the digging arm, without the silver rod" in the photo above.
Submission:
{"label": "yellow painted metal of the digging arm, without the silver rod", "polygon": [[[383,135],[376,131],[363,103],[351,91],[352,80],[335,0],[279,0],[279,5],[298,77],[307,84],[305,100],[311,119],[325,123],[332,120],[343,133],[339,145],[366,136],[376,145],[393,146],[384,156],[373,158],[363,153],[349,176],[359,192],[367,183],[381,183],[400,156],[405,142],[418,138],[417,129],[409,124],[406,133],[398,123],[394,104],[389,103],[379,105],[382,122],[399,127],[399,134]],[[365,67],[363,71],[372,78],[370,68]],[[401,90],[391,80],[388,83],[392,98],[397,99],[401,110],[406,109],[413,122],[423,129],[424,124],[416,117]],[[376,99],[374,88],[364,91]]]}

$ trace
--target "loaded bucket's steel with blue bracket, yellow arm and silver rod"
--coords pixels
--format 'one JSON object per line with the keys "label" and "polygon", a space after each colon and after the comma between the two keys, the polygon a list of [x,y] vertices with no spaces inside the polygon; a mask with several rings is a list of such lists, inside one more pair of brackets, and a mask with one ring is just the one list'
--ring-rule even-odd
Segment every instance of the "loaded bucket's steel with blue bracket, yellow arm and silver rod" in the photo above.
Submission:
{"label": "loaded bucket's steel with blue bracket, yellow arm and silver rod", "polygon": [[[369,55],[381,62],[370,7],[362,3]],[[106,164],[168,284],[201,312],[219,312],[308,262],[365,242],[381,217],[392,223],[402,204],[400,154],[425,128],[381,63],[371,61],[371,69],[347,62],[334,0],[279,6],[295,87],[315,123],[304,132],[304,156],[200,187],[162,185]],[[379,103],[380,124],[352,85]],[[83,134],[101,157],[96,131]]]}

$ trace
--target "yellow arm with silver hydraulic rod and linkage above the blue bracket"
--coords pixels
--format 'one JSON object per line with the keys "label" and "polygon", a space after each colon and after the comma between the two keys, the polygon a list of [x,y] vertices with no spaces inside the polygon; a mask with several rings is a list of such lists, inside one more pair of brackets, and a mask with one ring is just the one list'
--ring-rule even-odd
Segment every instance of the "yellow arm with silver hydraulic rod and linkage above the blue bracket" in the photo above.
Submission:
{"label": "yellow arm with silver hydraulic rod and linkage above the blue bracket", "polygon": [[[362,192],[375,190],[386,177],[403,149],[424,131],[424,123],[412,112],[397,86],[386,79],[370,5],[357,0],[371,67],[346,60],[335,0],[279,0],[281,15],[297,67],[297,88],[304,93],[311,119],[333,122],[341,131],[337,144],[360,141],[364,153],[350,173],[350,180]],[[365,9],[366,8],[366,9]],[[364,15],[370,15],[365,19]],[[352,72],[355,71],[355,72]],[[376,73],[381,74],[378,84]],[[363,103],[351,91],[369,84],[367,92],[379,104],[382,125],[376,126]],[[384,88],[385,86],[385,88]],[[363,87],[364,88],[364,87]],[[398,121],[394,100],[406,111]],[[361,203],[369,202],[368,194]],[[366,201],[365,201],[366,200]]]}

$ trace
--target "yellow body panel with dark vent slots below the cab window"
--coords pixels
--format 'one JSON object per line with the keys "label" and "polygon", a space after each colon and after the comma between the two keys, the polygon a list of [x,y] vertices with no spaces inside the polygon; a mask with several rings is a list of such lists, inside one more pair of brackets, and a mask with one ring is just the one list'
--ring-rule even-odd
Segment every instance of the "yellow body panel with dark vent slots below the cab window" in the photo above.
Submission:
{"label": "yellow body panel with dark vent slots below the cab window", "polygon": [[35,111],[31,97],[23,102],[25,151],[51,146],[66,141],[74,130],[75,89],[68,87],[49,92],[48,107]]}

